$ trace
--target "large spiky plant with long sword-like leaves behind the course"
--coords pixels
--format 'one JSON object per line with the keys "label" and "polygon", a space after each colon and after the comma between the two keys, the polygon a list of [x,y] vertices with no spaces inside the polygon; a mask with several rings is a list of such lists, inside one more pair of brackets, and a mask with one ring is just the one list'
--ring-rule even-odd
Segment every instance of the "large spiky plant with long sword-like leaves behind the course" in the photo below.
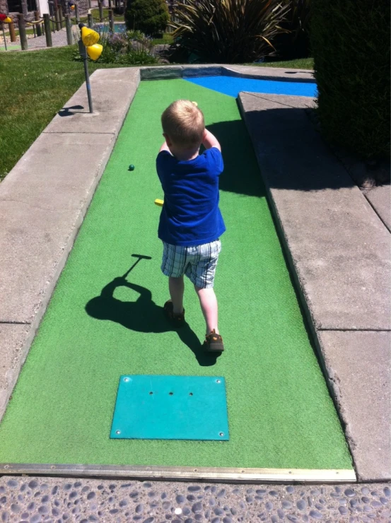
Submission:
{"label": "large spiky plant with long sword-like leaves behind the course", "polygon": [[278,0],[186,0],[175,10],[174,38],[199,61],[255,61],[274,51],[288,6]]}

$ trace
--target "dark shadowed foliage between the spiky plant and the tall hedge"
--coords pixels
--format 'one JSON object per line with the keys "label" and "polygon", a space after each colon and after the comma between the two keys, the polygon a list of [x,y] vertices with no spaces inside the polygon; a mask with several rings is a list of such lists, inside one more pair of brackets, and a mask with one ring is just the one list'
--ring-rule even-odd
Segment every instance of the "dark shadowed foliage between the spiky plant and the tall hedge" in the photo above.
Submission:
{"label": "dark shadowed foliage between the spiky plant and the tall hedge", "polygon": [[312,0],[285,1],[289,11],[286,20],[280,25],[286,33],[279,33],[272,41],[276,56],[283,60],[308,58],[311,56],[309,30]]}

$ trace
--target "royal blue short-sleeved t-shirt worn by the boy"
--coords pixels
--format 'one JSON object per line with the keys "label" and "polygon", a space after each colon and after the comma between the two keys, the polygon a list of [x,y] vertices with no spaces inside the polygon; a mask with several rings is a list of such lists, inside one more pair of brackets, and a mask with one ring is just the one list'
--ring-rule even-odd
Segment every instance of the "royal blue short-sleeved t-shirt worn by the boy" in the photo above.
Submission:
{"label": "royal blue short-sleeved t-shirt worn by the boy", "polygon": [[156,158],[164,191],[158,237],[171,245],[195,247],[214,242],[226,230],[218,208],[218,177],[223,157],[216,147],[194,160],[177,160],[168,151]]}

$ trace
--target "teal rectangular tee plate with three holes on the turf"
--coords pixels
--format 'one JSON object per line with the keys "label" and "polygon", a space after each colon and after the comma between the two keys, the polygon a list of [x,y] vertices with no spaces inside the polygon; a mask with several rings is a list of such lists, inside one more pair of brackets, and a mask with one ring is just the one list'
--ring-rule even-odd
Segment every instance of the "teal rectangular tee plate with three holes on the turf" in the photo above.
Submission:
{"label": "teal rectangular tee plate with three holes on the turf", "polygon": [[221,376],[121,376],[110,437],[227,441],[226,382]]}

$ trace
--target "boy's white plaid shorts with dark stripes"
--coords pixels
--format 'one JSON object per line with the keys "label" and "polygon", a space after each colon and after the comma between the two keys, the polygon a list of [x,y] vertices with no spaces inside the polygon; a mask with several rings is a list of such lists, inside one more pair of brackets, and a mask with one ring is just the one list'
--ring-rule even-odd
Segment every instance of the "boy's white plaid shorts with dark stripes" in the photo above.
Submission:
{"label": "boy's white plaid shorts with dark stripes", "polygon": [[165,276],[187,278],[199,288],[214,286],[218,254],[221,242],[216,240],[197,247],[182,247],[163,242],[163,261],[161,270]]}

